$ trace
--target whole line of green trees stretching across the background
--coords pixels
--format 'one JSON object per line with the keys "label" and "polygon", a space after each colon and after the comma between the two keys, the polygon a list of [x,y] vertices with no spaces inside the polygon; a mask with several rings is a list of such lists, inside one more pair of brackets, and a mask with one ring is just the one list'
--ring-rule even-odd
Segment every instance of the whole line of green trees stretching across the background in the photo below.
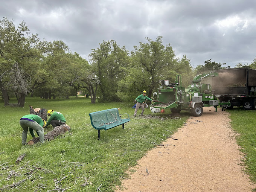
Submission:
{"label": "whole line of green trees stretching across the background", "polygon": [[38,36],[30,34],[24,21],[16,27],[13,20],[0,20],[0,97],[4,105],[9,105],[10,95],[24,107],[29,93],[44,99],[69,98],[80,89],[88,92],[91,103],[96,98],[99,102],[134,101],[143,90],[151,97],[160,79],[175,81],[180,74],[183,85],[188,85],[193,74],[230,67],[210,59],[193,69],[186,55],[178,58],[171,44],[163,45],[162,36],[155,41],[145,38],[147,43],[139,42],[131,52],[114,40],[103,41],[92,49],[89,61],[72,53],[61,40],[48,42]]}

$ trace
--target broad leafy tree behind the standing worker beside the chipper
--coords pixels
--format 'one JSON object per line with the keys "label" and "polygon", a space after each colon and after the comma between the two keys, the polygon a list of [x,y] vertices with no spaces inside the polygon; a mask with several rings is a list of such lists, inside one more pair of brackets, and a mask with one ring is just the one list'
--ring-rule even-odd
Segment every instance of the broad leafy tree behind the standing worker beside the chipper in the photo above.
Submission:
{"label": "broad leafy tree behind the standing worker beside the chipper", "polygon": [[158,36],[155,41],[148,37],[145,39],[147,43],[140,42],[140,45],[134,46],[131,52],[129,69],[125,79],[119,84],[117,94],[120,98],[131,99],[128,94],[135,96],[143,90],[148,91],[147,95],[151,97],[158,87],[159,80],[175,73],[177,61],[171,44],[164,46],[162,36]]}

